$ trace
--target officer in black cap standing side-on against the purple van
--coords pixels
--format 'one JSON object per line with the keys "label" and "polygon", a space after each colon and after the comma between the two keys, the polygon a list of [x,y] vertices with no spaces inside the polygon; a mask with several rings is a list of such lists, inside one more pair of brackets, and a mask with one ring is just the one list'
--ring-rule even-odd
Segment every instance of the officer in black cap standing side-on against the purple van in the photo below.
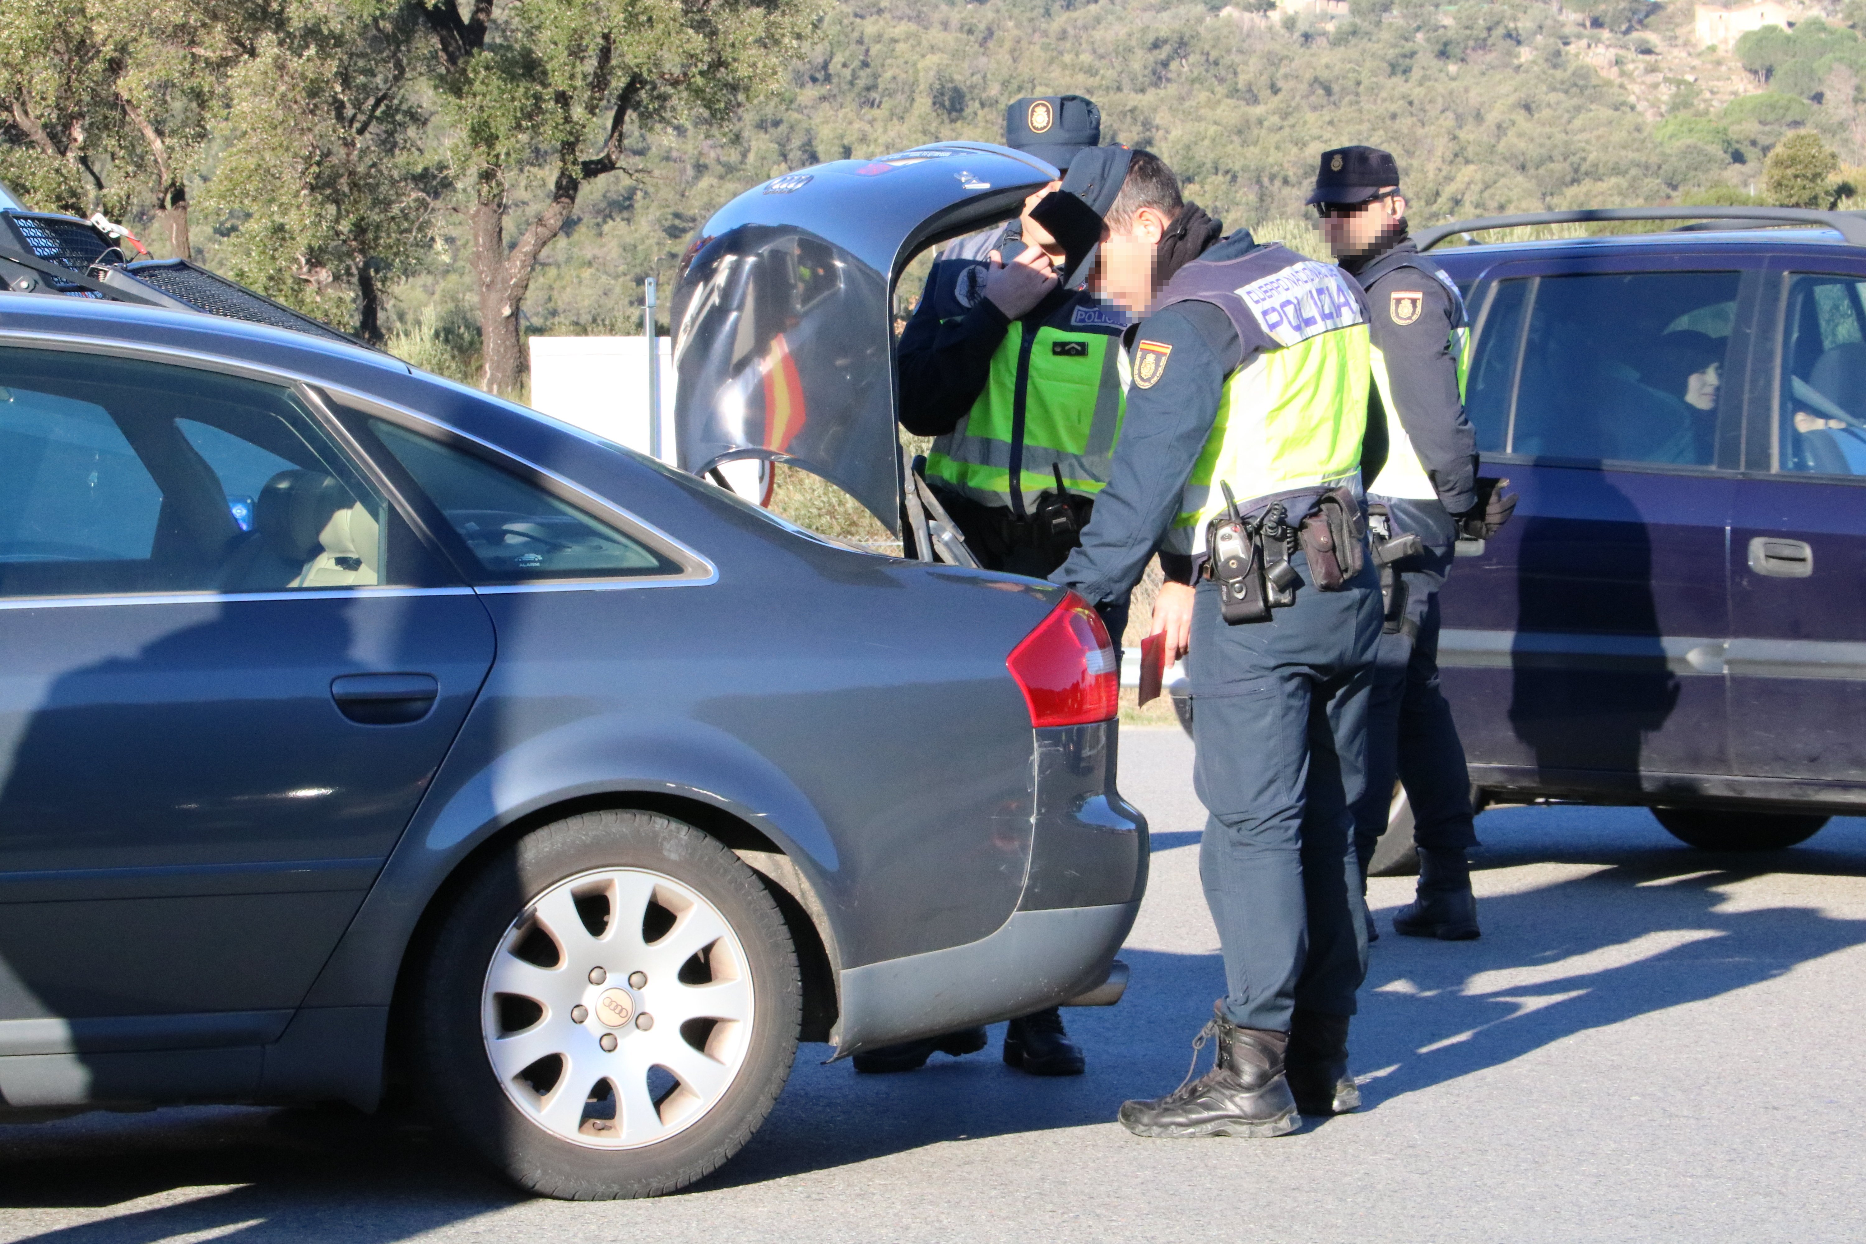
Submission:
{"label": "officer in black cap standing side-on against the purple van", "polygon": [[[1444,270],[1407,237],[1400,166],[1377,147],[1321,153],[1308,201],[1330,254],[1368,298],[1373,388],[1370,461],[1375,560],[1383,561],[1385,619],[1368,703],[1368,783],[1355,804],[1362,878],[1386,828],[1394,780],[1413,808],[1420,880],[1394,918],[1409,936],[1478,936],[1465,852],[1472,828],[1470,774],[1439,692],[1439,587],[1463,530],[1489,535],[1513,498],[1478,479],[1476,436],[1465,420],[1465,300]],[[1370,451],[1370,459],[1377,453]]]}

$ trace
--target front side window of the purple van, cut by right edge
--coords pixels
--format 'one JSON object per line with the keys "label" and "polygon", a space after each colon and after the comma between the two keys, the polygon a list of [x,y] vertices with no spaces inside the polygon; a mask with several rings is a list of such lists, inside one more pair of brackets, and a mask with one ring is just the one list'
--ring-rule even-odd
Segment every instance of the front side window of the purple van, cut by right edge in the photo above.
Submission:
{"label": "front side window of the purple van, cut by right edge", "polygon": [[1782,317],[1775,470],[1866,476],[1866,283],[1801,274]]}

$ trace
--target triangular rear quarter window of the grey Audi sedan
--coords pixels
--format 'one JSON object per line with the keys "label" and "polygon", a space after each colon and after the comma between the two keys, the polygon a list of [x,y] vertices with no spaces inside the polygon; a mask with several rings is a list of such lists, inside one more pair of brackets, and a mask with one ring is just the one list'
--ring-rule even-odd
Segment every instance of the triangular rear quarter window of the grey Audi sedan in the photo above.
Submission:
{"label": "triangular rear quarter window of the grey Audi sedan", "polygon": [[487,578],[633,578],[681,565],[493,463],[384,420],[369,429],[465,541]]}

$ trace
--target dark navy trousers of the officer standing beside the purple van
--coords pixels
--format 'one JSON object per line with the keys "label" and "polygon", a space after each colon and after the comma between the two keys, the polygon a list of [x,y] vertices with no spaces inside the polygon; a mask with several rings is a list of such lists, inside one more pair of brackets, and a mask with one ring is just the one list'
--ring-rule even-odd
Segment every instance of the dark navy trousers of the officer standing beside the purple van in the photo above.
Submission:
{"label": "dark navy trousers of the officer standing beside the purple van", "polygon": [[1439,690],[1439,587],[1452,569],[1457,532],[1444,505],[1385,502],[1394,532],[1413,532],[1426,552],[1398,563],[1405,584],[1405,625],[1381,634],[1368,698],[1368,785],[1355,804],[1355,852],[1362,873],[1386,830],[1394,781],[1413,808],[1413,841],[1426,850],[1463,852],[1478,845],[1470,772],[1452,705]]}

